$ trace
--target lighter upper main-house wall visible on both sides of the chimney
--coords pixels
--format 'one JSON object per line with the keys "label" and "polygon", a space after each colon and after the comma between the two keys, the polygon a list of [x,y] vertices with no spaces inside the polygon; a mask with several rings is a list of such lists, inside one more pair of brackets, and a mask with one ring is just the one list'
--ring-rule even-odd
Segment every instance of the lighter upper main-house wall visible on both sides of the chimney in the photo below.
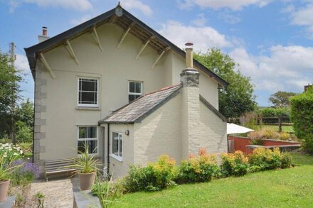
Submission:
{"label": "lighter upper main-house wall visible on both sides of the chimney", "polygon": [[[172,56],[172,79],[173,84],[178,84],[180,80],[181,71],[186,68],[185,59],[181,58],[179,55],[175,53],[171,54]],[[213,105],[216,109],[218,109],[218,82],[213,80],[211,77],[208,77],[204,72],[199,69],[200,72],[200,94],[208,101],[211,105]]]}

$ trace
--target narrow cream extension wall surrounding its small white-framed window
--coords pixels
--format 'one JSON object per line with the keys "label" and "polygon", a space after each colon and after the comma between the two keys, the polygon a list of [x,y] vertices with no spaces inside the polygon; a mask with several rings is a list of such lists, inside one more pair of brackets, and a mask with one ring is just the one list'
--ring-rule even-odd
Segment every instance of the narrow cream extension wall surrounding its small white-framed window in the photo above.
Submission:
{"label": "narrow cream extension wall surrounding its small white-framed window", "polygon": [[[129,136],[125,131],[129,130]],[[112,146],[112,132],[123,134],[122,161],[110,155],[110,173],[114,178],[122,177],[127,174],[129,165],[134,164],[134,126],[133,124],[110,124],[110,144]]]}

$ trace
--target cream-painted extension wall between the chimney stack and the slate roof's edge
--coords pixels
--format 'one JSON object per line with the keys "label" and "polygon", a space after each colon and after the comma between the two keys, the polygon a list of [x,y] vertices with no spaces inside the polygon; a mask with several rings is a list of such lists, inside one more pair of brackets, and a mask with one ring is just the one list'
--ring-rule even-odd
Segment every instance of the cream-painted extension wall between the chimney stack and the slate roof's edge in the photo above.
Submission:
{"label": "cream-painted extension wall between the chimney stack and the slate roof's edge", "polygon": [[134,124],[134,164],[147,165],[166,154],[181,160],[181,96],[170,99]]}

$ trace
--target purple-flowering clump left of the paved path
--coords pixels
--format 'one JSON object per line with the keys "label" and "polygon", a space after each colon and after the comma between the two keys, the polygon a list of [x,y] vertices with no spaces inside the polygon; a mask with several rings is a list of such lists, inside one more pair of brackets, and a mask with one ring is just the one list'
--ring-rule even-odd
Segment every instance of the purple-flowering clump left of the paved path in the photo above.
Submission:
{"label": "purple-flowering clump left of the paved path", "polygon": [[14,185],[28,185],[35,178],[39,177],[38,165],[34,163],[24,162],[23,160],[15,160],[12,166],[18,166],[11,174]]}

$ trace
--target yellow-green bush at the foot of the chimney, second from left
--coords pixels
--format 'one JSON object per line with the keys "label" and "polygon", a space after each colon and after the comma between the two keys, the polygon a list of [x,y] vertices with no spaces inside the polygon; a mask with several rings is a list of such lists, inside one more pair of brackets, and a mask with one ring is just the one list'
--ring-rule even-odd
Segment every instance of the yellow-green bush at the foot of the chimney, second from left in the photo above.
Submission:
{"label": "yellow-green bush at the foot of the chimney, second from left", "polygon": [[189,160],[181,161],[177,182],[206,182],[218,174],[216,155],[208,155],[206,149],[200,148],[198,157],[189,156]]}

